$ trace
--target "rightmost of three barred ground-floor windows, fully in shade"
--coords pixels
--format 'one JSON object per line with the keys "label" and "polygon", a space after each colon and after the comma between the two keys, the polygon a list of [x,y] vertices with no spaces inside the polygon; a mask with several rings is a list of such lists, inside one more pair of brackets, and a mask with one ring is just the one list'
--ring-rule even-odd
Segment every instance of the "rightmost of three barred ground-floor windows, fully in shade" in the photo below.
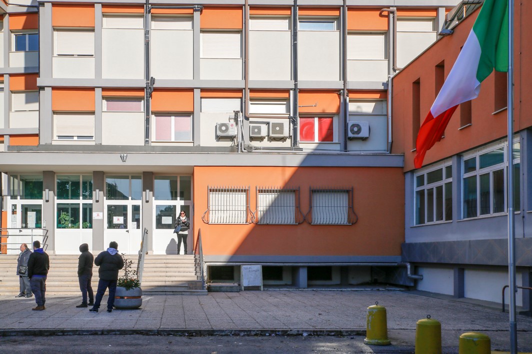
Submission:
{"label": "rightmost of three barred ground-floor windows, fully in shade", "polygon": [[312,225],[351,225],[356,222],[353,188],[311,189],[306,220]]}

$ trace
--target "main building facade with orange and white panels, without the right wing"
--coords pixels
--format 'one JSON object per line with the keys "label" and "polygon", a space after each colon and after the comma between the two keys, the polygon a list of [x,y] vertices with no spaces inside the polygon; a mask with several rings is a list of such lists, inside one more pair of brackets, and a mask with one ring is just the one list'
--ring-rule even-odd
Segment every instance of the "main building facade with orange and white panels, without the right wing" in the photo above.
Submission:
{"label": "main building facade with orange and white panels, without the right wing", "polygon": [[4,252],[175,254],[184,210],[211,280],[413,284],[389,77],[457,2],[0,2]]}

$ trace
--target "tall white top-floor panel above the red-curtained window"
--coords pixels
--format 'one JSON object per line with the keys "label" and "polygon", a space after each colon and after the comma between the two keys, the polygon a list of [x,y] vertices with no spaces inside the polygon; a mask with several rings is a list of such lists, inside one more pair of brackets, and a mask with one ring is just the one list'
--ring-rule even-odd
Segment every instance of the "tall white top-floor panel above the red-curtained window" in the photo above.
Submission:
{"label": "tall white top-floor panel above the red-curtained window", "polygon": [[340,79],[339,32],[301,31],[298,40],[299,80]]}

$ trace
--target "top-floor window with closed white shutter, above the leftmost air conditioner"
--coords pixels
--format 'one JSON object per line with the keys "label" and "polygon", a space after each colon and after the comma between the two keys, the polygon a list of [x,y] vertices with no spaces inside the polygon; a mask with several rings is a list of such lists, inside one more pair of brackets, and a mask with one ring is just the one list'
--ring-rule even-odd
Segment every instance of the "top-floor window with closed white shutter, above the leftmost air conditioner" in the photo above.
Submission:
{"label": "top-floor window with closed white shutter, above the leftmost air conditioner", "polygon": [[240,59],[240,32],[201,32],[202,58]]}

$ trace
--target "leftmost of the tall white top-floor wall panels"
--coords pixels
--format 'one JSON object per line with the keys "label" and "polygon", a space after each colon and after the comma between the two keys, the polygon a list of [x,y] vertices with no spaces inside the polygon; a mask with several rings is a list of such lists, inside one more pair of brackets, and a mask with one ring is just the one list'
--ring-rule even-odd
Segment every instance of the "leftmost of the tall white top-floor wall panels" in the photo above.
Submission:
{"label": "leftmost of the tall white top-floor wall panels", "polygon": [[102,77],[144,78],[144,30],[102,29]]}

